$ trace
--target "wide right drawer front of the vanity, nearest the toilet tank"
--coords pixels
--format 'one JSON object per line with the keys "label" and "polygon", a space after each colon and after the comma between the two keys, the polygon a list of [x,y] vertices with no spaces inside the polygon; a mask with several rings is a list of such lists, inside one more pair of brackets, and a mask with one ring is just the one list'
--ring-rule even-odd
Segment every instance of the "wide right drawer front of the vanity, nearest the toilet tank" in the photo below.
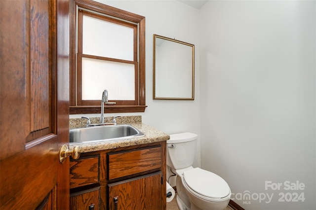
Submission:
{"label": "wide right drawer front of the vanity, nearest the toilet tank", "polygon": [[109,179],[161,169],[161,147],[108,153]]}

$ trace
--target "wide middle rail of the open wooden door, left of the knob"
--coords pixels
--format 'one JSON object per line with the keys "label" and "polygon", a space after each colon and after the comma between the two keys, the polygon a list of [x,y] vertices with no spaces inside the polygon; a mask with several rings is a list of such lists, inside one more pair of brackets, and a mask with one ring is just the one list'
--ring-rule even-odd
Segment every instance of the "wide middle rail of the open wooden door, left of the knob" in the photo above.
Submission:
{"label": "wide middle rail of the open wooden door, left of the knob", "polygon": [[54,188],[58,164],[56,143],[56,136],[52,136],[0,162],[0,209],[35,209]]}

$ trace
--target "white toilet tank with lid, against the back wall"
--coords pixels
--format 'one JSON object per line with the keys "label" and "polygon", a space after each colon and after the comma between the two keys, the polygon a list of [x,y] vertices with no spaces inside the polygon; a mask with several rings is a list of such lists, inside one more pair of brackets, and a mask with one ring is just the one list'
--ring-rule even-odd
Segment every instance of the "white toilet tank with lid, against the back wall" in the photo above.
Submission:
{"label": "white toilet tank with lid, against the back wall", "polygon": [[192,166],[197,148],[197,134],[169,135],[167,140],[167,166],[182,169]]}

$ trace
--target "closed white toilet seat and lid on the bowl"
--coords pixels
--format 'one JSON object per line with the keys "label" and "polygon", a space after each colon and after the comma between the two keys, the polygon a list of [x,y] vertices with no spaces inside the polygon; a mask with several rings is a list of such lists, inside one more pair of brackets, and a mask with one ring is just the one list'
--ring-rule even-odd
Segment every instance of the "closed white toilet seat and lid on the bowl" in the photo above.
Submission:
{"label": "closed white toilet seat and lid on the bowl", "polygon": [[231,189],[222,177],[200,168],[185,171],[183,180],[190,192],[204,200],[219,201],[231,194]]}

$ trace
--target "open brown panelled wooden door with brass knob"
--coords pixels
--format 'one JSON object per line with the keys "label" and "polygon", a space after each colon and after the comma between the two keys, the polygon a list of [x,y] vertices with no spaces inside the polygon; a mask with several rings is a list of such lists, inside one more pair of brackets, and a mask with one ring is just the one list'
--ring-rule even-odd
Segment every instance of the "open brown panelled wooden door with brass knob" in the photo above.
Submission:
{"label": "open brown panelled wooden door with brass knob", "polygon": [[68,14],[68,0],[0,0],[1,210],[69,209]]}

